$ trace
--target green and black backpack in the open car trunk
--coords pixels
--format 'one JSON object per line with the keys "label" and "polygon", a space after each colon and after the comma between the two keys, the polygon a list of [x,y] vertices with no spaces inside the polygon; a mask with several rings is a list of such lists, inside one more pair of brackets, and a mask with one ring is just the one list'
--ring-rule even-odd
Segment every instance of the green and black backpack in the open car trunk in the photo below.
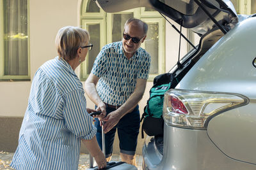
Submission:
{"label": "green and black backpack in the open car trunk", "polygon": [[154,85],[149,91],[150,97],[141,117],[141,122],[143,120],[141,138],[144,138],[143,131],[148,136],[157,136],[163,134],[164,93],[171,89],[174,84],[177,85],[177,83],[173,83],[172,73],[160,74],[154,78]]}

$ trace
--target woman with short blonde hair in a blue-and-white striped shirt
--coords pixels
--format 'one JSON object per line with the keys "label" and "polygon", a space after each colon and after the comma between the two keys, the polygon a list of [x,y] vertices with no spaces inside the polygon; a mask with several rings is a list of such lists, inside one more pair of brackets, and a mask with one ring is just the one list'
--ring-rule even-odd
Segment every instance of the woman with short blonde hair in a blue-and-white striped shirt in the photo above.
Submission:
{"label": "woman with short blonde hair in a blue-and-white striped shirt", "polygon": [[35,73],[19,134],[14,169],[78,169],[81,140],[99,168],[106,159],[97,144],[81,81],[74,70],[92,45],[79,27],[63,27],[56,36],[58,57]]}

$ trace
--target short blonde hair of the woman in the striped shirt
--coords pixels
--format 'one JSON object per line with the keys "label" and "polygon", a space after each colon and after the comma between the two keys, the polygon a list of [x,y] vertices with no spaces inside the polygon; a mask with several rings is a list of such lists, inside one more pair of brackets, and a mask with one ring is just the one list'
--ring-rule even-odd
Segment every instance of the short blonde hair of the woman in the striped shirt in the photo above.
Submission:
{"label": "short blonde hair of the woman in the striped shirt", "polygon": [[78,48],[88,43],[89,39],[89,32],[79,27],[61,28],[55,39],[59,57],[67,61],[75,59]]}

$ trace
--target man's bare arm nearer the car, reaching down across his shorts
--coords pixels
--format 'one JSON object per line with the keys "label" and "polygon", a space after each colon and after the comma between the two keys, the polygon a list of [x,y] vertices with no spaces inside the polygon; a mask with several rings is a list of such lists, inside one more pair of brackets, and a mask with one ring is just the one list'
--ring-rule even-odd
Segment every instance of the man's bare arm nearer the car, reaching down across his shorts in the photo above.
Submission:
{"label": "man's bare arm nearer the car, reaching down across his shorts", "polygon": [[141,78],[138,78],[136,80],[136,87],[134,89],[134,92],[127,99],[127,101],[122,104],[120,108],[112,111],[108,114],[106,118],[102,119],[106,121],[106,123],[104,124],[104,133],[110,131],[113,127],[115,127],[115,125],[119,122],[120,118],[124,117],[124,115],[132,111],[137,106],[137,104],[143,97],[146,85],[147,80]]}

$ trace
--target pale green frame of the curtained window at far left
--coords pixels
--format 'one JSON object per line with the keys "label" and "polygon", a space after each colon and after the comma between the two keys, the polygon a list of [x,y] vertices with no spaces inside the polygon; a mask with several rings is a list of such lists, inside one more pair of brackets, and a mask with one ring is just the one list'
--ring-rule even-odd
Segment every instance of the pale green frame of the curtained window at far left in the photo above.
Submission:
{"label": "pale green frame of the curtained window at far left", "polygon": [[[4,16],[0,15],[0,81],[30,81],[30,41],[29,41],[29,0],[28,8],[28,75],[4,75]],[[3,14],[3,1],[0,1],[0,13]]]}

